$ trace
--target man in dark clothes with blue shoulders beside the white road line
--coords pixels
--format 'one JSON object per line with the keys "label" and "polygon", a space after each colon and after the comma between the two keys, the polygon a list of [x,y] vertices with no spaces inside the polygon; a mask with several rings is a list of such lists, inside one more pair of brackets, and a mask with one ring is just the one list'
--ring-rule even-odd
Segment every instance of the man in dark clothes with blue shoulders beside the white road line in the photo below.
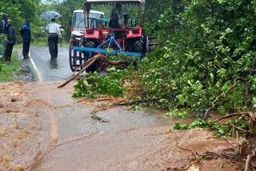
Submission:
{"label": "man in dark clothes with blue shoulders beside the white road line", "polygon": [[31,38],[31,26],[30,26],[30,19],[26,19],[26,24],[22,26],[21,35],[23,38],[23,58],[29,58],[29,51],[30,51],[30,38]]}

